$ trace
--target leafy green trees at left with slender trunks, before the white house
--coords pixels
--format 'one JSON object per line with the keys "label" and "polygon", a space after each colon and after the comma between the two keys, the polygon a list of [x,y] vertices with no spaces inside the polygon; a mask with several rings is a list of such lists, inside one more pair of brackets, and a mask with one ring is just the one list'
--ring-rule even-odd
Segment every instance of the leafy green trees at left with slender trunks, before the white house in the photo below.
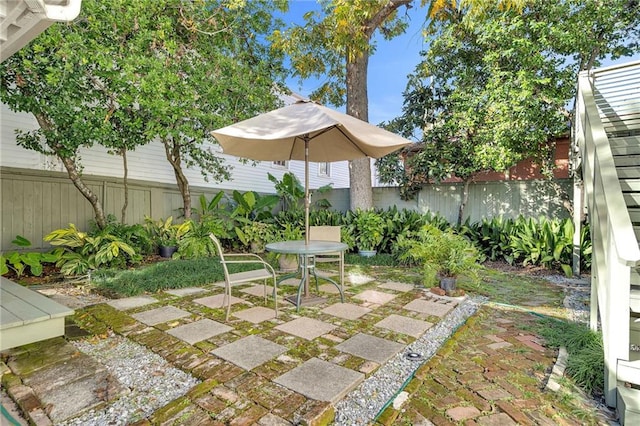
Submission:
{"label": "leafy green trees at left with slender trunks, before the white house", "polygon": [[69,25],[52,25],[0,65],[0,100],[32,113],[40,128],[18,143],[57,156],[92,204],[82,182],[81,147],[114,152],[161,141],[183,195],[191,201],[184,167],[206,178],[229,168],[207,149],[209,131],[277,104],[281,56],[268,50],[273,8],[281,2],[84,0]]}

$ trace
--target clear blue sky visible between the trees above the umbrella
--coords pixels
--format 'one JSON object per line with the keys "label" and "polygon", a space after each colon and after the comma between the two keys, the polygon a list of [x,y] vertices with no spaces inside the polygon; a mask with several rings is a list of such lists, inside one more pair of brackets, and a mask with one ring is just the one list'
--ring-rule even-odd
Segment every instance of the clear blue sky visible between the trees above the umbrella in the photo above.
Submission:
{"label": "clear blue sky visible between the trees above the umbrella", "polygon": [[[285,19],[302,23],[302,15],[318,9],[315,0],[292,0]],[[406,8],[400,8],[400,13],[405,11]],[[425,48],[421,29],[426,8],[413,7],[408,14],[411,20],[407,31],[389,41],[378,37],[376,52],[369,58],[369,122],[372,124],[400,115],[407,75],[420,62],[419,53]],[[291,90],[303,96],[309,96],[320,85],[318,81],[307,80],[300,86],[297,78],[290,79],[288,84]],[[344,111],[344,107],[338,109]]]}

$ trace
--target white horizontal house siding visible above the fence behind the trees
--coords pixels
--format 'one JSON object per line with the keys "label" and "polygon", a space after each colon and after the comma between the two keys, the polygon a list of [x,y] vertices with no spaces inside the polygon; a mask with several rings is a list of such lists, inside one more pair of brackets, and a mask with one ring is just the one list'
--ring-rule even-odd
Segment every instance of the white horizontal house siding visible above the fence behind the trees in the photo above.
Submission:
{"label": "white horizontal house siding visible above the fence behind the trees", "polygon": [[[0,166],[26,168],[35,170],[64,171],[62,165],[52,157],[44,156],[34,151],[29,151],[16,145],[15,129],[24,131],[38,127],[36,120],[30,114],[14,113],[9,108],[1,105],[1,133]],[[219,151],[219,147],[211,145],[210,149]],[[236,157],[220,154],[226,162],[233,166],[231,179],[224,182],[205,182],[199,170],[187,169],[185,174],[192,186],[201,186],[220,189],[237,189],[239,191],[274,192],[273,183],[267,178],[271,173],[277,178],[287,172],[293,172],[301,182],[304,182],[304,163],[291,161],[288,168],[274,167],[271,162],[260,162],[256,166],[242,164]],[[122,159],[110,155],[102,147],[81,149],[80,157],[83,165],[83,173],[88,175],[122,177]],[[127,153],[129,165],[129,178],[151,182],[175,184],[175,177],[171,166],[167,162],[164,148],[159,142],[139,147],[135,151]],[[309,165],[309,186],[319,188],[333,183],[334,188],[349,187],[349,169],[346,161],[331,163],[330,176],[319,176],[318,164]]]}

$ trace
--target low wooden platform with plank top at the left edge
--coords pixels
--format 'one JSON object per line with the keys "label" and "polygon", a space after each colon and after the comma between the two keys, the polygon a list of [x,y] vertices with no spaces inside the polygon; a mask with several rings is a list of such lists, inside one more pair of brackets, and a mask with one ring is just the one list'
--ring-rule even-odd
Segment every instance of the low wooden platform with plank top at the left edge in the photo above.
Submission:
{"label": "low wooden platform with plank top at the left edge", "polygon": [[64,335],[70,309],[0,277],[0,351]]}

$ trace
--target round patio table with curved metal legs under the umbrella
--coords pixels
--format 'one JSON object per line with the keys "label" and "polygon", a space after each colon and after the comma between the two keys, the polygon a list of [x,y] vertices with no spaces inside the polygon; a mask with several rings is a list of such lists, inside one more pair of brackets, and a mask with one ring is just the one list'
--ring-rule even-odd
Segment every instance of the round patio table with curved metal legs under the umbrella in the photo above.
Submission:
{"label": "round patio table with curved metal legs under the umbrella", "polygon": [[[293,241],[279,241],[277,243],[269,243],[265,246],[267,251],[273,253],[281,253],[281,254],[295,254],[299,259],[299,272],[300,272],[300,284],[298,284],[298,294],[294,300],[287,299],[290,302],[296,305],[296,309],[300,310],[301,302],[304,304],[305,299],[311,300],[311,296],[309,295],[309,279],[310,274],[313,274],[316,279],[316,290],[318,289],[318,276],[316,275],[315,270],[315,261],[314,256],[317,254],[328,254],[335,252],[343,252],[348,246],[345,243],[340,243],[337,241],[320,241],[320,240],[311,240],[307,243],[305,240],[293,240]],[[298,275],[298,272],[294,272],[293,274],[287,274],[280,277],[276,283],[278,285],[285,279],[291,278]],[[340,292],[340,300],[344,302],[344,292],[340,285],[337,282],[328,277],[321,277],[329,281],[331,284],[335,285],[338,291]],[[302,292],[304,290],[304,297],[302,297]]]}

